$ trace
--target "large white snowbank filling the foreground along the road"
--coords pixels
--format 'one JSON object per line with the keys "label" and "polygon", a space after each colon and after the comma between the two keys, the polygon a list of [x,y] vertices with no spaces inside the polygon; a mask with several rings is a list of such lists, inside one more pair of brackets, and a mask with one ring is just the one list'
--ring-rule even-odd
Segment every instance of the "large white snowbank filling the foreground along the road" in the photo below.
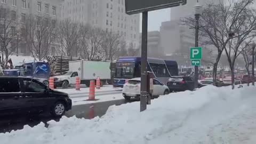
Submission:
{"label": "large white snowbank filling the foreground along the road", "polygon": [[256,88],[206,86],[140,103],[111,106],[101,118],[60,122],[0,134],[1,144],[256,143]]}

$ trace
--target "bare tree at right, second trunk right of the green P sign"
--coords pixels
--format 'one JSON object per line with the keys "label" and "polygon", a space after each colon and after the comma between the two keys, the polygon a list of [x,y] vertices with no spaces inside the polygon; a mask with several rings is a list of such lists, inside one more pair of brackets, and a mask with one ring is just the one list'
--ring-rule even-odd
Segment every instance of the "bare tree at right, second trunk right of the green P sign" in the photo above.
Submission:
{"label": "bare tree at right, second trunk right of the green P sign", "polygon": [[255,33],[252,33],[256,30],[256,9],[250,7],[253,2],[252,0],[232,2],[233,11],[231,11],[230,17],[235,17],[236,20],[230,22],[230,29],[233,30],[233,33],[229,34],[231,40],[225,47],[225,52],[231,70],[232,89],[234,89],[235,61],[239,54],[253,42],[256,36]]}

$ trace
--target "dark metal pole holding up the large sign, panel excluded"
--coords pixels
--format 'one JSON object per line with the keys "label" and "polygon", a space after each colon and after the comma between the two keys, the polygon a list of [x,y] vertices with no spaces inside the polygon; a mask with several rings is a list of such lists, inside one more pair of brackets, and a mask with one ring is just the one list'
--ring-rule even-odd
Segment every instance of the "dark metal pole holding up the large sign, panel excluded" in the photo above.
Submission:
{"label": "dark metal pole holding up the large sign, panel excluded", "polygon": [[148,43],[148,12],[142,13],[141,35],[141,88],[140,88],[140,111],[147,109],[147,43]]}

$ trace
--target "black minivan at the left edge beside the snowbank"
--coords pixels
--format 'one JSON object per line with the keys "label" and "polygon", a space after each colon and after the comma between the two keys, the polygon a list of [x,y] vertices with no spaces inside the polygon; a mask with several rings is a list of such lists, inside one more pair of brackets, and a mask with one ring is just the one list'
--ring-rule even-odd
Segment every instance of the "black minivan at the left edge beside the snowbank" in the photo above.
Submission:
{"label": "black minivan at the left edge beside the snowbank", "polygon": [[0,76],[0,115],[50,112],[61,117],[72,106],[68,94],[26,77]]}

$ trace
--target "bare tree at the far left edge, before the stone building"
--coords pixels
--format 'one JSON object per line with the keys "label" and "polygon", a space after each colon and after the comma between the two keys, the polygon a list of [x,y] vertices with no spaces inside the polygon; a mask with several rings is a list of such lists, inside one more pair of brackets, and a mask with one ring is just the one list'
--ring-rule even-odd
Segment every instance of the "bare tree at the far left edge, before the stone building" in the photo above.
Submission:
{"label": "bare tree at the far left edge, before the stone building", "polygon": [[17,28],[19,22],[16,12],[0,6],[0,64],[6,66],[9,56],[15,51],[15,41],[17,41]]}

